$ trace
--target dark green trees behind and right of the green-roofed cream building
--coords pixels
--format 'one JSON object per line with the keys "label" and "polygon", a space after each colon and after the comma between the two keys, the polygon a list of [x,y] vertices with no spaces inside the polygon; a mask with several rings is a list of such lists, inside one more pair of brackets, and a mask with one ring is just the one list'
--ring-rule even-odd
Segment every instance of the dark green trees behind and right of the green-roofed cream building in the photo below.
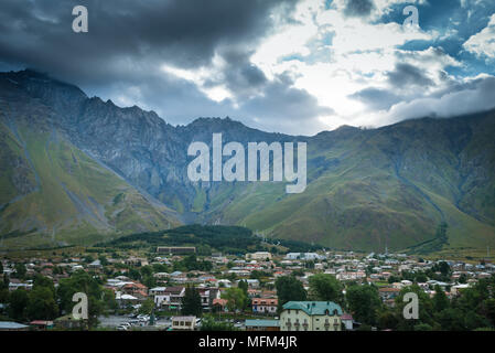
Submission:
{"label": "dark green trees behind and right of the green-roofed cream building", "polygon": [[[439,265],[439,270],[446,267]],[[486,330],[495,328],[495,278],[482,279],[462,295],[449,300],[445,292],[435,287],[432,298],[418,285],[403,288],[396,298],[394,308],[386,307],[374,285],[344,285],[334,276],[318,274],[310,277],[306,291],[294,276],[279,277],[276,280],[279,295],[279,310],[288,301],[320,300],[338,303],[351,312],[362,330],[376,327],[379,330]],[[345,290],[345,296],[343,295]],[[416,292],[419,299],[419,319],[406,320],[402,311],[407,302],[403,296]]]}

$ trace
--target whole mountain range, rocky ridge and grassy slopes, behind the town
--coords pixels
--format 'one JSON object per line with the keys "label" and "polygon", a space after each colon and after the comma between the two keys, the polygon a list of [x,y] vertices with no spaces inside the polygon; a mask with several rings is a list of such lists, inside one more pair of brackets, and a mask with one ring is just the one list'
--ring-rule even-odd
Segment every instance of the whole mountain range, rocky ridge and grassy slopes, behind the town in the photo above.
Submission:
{"label": "whole mountain range, rocky ridge and grassy slopes, behind the town", "polygon": [[[191,182],[187,147],[211,143],[214,132],[245,146],[306,142],[305,191]],[[187,223],[336,249],[494,246],[494,136],[495,110],[312,137],[229,118],[174,127],[45,74],[1,73],[0,249],[87,245]]]}

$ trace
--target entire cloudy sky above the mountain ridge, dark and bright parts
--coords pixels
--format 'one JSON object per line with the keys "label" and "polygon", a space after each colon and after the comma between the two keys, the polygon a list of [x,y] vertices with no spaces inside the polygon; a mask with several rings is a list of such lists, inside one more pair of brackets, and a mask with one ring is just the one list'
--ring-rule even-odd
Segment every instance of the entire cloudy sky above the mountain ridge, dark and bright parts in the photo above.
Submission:
{"label": "entire cloudy sky above the mountain ridge, dark and bright parts", "polygon": [[[88,33],[72,30],[77,4]],[[25,67],[173,125],[442,118],[495,107],[495,1],[1,0],[0,71]]]}

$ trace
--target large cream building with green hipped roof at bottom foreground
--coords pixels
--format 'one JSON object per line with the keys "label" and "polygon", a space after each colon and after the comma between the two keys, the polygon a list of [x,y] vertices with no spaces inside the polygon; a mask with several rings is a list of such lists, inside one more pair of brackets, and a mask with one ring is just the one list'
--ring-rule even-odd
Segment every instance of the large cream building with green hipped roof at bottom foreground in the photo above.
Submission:
{"label": "large cream building with green hipped roof at bottom foreground", "polygon": [[280,331],[342,331],[342,314],[333,301],[289,301],[280,314]]}

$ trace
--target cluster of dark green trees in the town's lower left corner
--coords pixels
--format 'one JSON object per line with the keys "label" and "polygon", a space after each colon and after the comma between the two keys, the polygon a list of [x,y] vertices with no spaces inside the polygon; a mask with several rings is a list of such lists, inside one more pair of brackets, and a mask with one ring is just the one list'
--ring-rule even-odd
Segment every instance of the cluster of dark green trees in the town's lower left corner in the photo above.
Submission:
{"label": "cluster of dark green trees in the town's lower left corner", "polygon": [[85,271],[77,271],[69,278],[62,279],[57,288],[50,278],[35,275],[33,288],[29,291],[19,288],[9,292],[9,279],[7,276],[4,278],[0,287],[0,302],[7,303],[7,315],[15,321],[53,320],[71,313],[75,306],[72,298],[76,292],[84,292],[88,297],[89,327],[97,324],[98,315],[117,308],[114,292],[105,289],[99,279]]}

